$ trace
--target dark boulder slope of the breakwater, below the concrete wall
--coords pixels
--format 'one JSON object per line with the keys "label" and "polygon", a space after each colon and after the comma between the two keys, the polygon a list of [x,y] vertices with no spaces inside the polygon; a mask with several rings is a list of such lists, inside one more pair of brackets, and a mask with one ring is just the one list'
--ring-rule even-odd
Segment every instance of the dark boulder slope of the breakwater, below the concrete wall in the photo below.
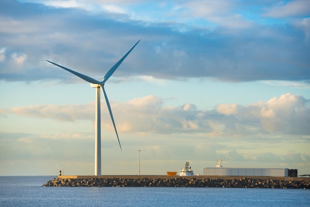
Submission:
{"label": "dark boulder slope of the breakwater, below the concrete wall", "polygon": [[210,178],[55,178],[42,187],[218,187],[310,189],[310,181]]}

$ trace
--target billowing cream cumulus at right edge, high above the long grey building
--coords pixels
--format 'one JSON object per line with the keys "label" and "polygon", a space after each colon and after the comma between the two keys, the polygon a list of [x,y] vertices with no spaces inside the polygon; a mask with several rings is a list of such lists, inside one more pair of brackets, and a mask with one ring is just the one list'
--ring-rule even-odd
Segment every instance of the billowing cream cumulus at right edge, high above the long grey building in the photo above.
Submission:
{"label": "billowing cream cumulus at right edge, high above the long grey building", "polygon": [[[237,115],[233,119],[247,125],[247,122],[259,122],[261,131],[281,132],[288,134],[307,134],[309,128],[306,123],[310,122],[310,107],[302,96],[290,93],[274,97],[266,103],[250,105],[219,104],[216,110],[225,115]],[[237,107],[238,106],[238,107]],[[255,125],[253,125],[255,126]]]}

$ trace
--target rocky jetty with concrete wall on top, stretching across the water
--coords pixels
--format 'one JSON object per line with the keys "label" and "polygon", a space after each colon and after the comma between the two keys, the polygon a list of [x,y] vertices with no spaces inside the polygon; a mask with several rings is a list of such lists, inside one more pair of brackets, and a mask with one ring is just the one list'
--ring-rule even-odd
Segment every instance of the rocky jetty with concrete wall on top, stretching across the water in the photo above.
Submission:
{"label": "rocky jetty with concrete wall on top, stretching across the water", "polygon": [[310,189],[310,178],[241,176],[58,176],[42,187],[215,187]]}

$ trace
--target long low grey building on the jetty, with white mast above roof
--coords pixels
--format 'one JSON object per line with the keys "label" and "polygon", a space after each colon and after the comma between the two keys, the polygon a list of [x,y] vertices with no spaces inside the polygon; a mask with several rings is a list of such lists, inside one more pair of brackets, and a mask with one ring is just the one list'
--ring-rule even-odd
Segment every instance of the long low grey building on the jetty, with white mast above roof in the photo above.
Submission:
{"label": "long low grey building on the jetty, with white mast above roof", "polygon": [[270,176],[270,177],[297,177],[297,169],[288,168],[228,168],[217,160],[216,167],[204,168],[203,175],[208,176]]}

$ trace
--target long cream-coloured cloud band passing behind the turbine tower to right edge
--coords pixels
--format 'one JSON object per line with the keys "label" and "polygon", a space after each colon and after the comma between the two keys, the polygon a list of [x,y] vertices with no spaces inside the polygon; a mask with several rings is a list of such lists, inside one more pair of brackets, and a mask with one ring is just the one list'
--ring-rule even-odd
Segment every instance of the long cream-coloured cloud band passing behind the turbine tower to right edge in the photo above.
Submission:
{"label": "long cream-coloured cloud band passing behind the turbine tower to right edge", "polygon": [[[306,135],[310,133],[310,107],[302,96],[284,94],[250,105],[219,104],[215,110],[197,110],[194,104],[163,107],[155,96],[125,103],[111,102],[119,132],[206,133],[209,136],[246,136],[257,133]],[[105,104],[102,101],[102,104]],[[13,107],[20,116],[61,121],[94,121],[94,103],[76,105],[34,105]],[[113,131],[109,113],[102,107],[102,124]]]}

